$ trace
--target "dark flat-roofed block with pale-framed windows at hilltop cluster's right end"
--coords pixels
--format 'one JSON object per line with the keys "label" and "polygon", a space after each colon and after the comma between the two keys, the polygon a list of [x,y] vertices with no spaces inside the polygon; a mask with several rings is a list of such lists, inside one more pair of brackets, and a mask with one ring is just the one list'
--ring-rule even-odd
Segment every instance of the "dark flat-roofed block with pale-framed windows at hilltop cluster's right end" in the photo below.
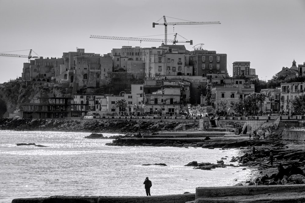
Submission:
{"label": "dark flat-roofed block with pale-framed windows at hilltop cluster's right end", "polygon": [[216,51],[194,50],[189,56],[193,65],[194,76],[221,73],[227,74],[227,54],[217,54]]}

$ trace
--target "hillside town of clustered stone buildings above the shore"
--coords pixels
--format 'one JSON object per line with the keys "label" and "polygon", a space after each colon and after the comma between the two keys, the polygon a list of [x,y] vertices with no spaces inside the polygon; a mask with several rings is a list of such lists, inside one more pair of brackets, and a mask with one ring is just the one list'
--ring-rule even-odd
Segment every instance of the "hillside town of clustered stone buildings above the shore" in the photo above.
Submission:
{"label": "hillside town of clustered stone buildings above the shore", "polygon": [[[258,80],[250,61],[233,62],[229,76],[227,54],[184,45],[122,46],[96,54],[77,48],[62,58],[39,57],[23,64],[26,85],[60,88],[65,94],[22,103],[23,118],[82,118],[84,116],[246,116],[234,103],[255,93]],[[303,76],[305,62],[283,67],[277,76]],[[289,115],[291,100],[303,94],[304,82],[281,83],[260,90],[257,115]],[[102,93],[95,90],[103,89]],[[225,101],[225,102],[224,102]],[[197,108],[198,106],[198,108]],[[210,106],[210,109],[201,108]],[[241,106],[241,105],[240,105]],[[197,108],[197,109],[196,109]],[[12,112],[8,112],[12,113]],[[8,117],[6,113],[5,117]]]}

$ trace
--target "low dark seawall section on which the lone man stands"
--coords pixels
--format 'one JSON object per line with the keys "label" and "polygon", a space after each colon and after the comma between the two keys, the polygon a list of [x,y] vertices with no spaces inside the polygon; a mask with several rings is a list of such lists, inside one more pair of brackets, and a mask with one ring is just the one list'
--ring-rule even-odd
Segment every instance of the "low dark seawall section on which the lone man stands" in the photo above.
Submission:
{"label": "low dark seawall section on which the lone man stands", "polygon": [[13,199],[12,203],[185,203],[194,201],[195,194],[159,196],[51,196]]}

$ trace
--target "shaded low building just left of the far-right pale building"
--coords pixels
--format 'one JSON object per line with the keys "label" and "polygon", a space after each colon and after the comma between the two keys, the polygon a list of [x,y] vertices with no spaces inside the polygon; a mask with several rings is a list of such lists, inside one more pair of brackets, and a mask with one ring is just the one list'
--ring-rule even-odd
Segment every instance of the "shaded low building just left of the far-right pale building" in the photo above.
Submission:
{"label": "shaded low building just left of the far-right pale building", "polygon": [[266,95],[266,99],[263,103],[263,113],[272,114],[272,113],[279,113],[281,110],[280,108],[280,94],[281,94],[281,87],[276,87],[275,89],[261,89],[260,93]]}

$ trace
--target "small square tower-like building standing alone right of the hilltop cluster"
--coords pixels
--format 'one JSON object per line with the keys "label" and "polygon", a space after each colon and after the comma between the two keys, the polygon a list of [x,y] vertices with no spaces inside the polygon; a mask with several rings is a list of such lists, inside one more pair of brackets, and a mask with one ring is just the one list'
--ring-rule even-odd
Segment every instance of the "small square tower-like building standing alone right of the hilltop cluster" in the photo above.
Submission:
{"label": "small square tower-like building standing alone right of the hilltop cluster", "polygon": [[233,62],[233,77],[258,78],[255,69],[250,68],[250,61]]}

